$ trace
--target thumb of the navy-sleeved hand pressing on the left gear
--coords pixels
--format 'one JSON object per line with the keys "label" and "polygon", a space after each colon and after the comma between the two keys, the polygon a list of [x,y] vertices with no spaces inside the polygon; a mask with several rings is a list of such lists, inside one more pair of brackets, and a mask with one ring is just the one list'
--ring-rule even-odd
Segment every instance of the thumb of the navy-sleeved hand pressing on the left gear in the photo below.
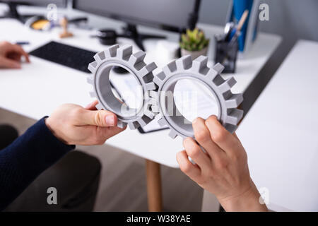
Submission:
{"label": "thumb of the navy-sleeved hand pressing on the left gear", "polygon": [[85,109],[82,114],[82,122],[86,125],[110,127],[117,126],[117,116],[106,110],[90,111]]}

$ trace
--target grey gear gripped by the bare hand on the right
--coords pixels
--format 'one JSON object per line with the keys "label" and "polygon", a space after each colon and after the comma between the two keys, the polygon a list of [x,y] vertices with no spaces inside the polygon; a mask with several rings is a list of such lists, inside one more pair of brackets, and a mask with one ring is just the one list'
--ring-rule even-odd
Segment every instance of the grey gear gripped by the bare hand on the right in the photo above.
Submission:
{"label": "grey gear gripped by the bare hand on the right", "polygon": [[160,126],[170,128],[169,136],[172,138],[176,136],[194,137],[191,122],[184,123],[187,119],[180,114],[174,100],[172,100],[174,114],[171,114],[171,110],[167,109],[165,92],[173,93],[177,81],[182,78],[199,80],[212,91],[218,102],[218,120],[230,133],[237,129],[237,123],[242,119],[243,111],[236,107],[243,101],[243,96],[242,94],[232,94],[230,91],[230,88],[236,83],[235,79],[232,77],[224,80],[220,76],[224,66],[218,63],[213,66],[213,69],[210,69],[207,62],[208,58],[204,56],[198,57],[194,61],[189,55],[184,56],[167,64],[163,67],[163,71],[153,78],[153,82],[158,85],[158,93],[151,92],[151,96],[155,97],[155,102],[158,104],[158,108],[153,107],[153,111],[160,113],[158,123]]}

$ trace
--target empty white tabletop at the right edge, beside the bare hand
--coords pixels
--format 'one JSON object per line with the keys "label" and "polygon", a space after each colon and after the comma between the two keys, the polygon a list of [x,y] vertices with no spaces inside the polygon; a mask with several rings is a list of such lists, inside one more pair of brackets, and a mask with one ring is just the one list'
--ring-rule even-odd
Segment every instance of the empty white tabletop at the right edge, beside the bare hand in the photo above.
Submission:
{"label": "empty white tabletop at the right edge, beside the bare hand", "polygon": [[237,129],[272,210],[318,211],[317,63],[318,42],[298,41]]}

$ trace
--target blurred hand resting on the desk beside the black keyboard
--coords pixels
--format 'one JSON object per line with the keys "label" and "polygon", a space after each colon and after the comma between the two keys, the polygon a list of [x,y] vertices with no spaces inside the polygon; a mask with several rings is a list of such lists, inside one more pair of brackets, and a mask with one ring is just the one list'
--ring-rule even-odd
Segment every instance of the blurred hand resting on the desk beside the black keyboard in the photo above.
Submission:
{"label": "blurred hand resting on the desk beside the black keyboard", "polygon": [[0,68],[20,69],[22,56],[30,63],[29,55],[18,44],[0,42]]}

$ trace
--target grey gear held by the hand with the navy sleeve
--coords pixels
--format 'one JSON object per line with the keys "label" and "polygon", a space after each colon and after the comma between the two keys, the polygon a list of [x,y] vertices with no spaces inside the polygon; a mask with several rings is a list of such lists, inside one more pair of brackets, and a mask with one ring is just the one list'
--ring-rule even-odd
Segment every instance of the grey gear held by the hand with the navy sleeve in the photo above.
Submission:
{"label": "grey gear held by the hand with the navy sleeve", "polygon": [[[92,74],[87,81],[93,85],[91,97],[98,99],[97,109],[107,109],[117,114],[119,127],[129,125],[130,129],[137,129],[139,126],[146,126],[155,114],[151,112],[150,90],[155,90],[153,83],[153,70],[157,68],[155,63],[146,64],[143,59],[146,53],[143,51],[132,53],[131,45],[119,47],[118,44],[109,47],[105,51],[95,54],[88,69]],[[125,104],[120,103],[112,93],[110,85],[110,70],[112,66],[121,66],[129,71],[139,81],[143,89],[143,105],[140,109],[129,109]],[[123,111],[124,109],[124,111]],[[134,114],[131,114],[133,112]]]}

